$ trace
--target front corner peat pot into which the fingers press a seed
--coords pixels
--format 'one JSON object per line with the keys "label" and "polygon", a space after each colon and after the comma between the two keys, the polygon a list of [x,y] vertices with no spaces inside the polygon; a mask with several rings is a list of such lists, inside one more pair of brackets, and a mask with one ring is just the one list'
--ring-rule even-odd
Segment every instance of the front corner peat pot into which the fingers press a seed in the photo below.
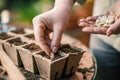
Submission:
{"label": "front corner peat pot into which the fingers press a seed", "polygon": [[35,57],[41,77],[45,78],[45,80],[57,80],[61,78],[68,58],[67,54],[64,56],[55,54],[52,60],[44,52],[36,53],[33,56]]}

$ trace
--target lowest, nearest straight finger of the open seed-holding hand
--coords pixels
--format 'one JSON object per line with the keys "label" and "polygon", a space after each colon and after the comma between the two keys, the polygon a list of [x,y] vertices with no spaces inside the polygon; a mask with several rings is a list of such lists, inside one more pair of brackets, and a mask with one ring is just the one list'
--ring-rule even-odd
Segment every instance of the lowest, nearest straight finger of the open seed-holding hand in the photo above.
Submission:
{"label": "lowest, nearest straight finger of the open seed-holding hand", "polygon": [[94,34],[106,34],[106,27],[85,27],[82,29],[84,32],[94,33]]}

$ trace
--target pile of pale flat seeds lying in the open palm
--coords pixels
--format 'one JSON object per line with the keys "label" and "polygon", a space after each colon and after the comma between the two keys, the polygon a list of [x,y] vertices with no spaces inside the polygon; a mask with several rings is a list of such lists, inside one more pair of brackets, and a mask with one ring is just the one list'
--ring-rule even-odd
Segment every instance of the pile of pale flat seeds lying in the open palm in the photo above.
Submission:
{"label": "pile of pale flat seeds lying in the open palm", "polygon": [[100,16],[95,22],[97,27],[110,27],[112,23],[115,22],[115,14],[110,13],[108,16]]}

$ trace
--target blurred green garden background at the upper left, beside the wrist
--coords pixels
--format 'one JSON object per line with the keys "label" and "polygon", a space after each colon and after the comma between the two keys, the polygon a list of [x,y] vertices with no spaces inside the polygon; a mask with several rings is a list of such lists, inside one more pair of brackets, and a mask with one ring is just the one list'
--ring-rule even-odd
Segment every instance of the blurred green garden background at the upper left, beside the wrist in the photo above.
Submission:
{"label": "blurred green garden background at the upper left, beside the wrist", "polygon": [[0,0],[0,12],[9,10],[12,23],[31,24],[34,16],[53,7],[54,0]]}

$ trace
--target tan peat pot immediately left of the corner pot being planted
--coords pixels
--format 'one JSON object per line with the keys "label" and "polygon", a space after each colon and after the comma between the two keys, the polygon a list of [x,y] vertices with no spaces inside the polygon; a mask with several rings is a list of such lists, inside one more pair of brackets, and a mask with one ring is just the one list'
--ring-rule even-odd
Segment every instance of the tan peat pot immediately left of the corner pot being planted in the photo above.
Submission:
{"label": "tan peat pot immediately left of the corner pot being planted", "polygon": [[40,47],[36,45],[35,43],[24,45],[22,46],[22,48],[18,49],[24,68],[26,70],[33,72],[33,73],[38,72],[37,66],[36,66],[36,63],[35,63],[35,60],[32,54],[35,54],[40,51],[41,51]]}

